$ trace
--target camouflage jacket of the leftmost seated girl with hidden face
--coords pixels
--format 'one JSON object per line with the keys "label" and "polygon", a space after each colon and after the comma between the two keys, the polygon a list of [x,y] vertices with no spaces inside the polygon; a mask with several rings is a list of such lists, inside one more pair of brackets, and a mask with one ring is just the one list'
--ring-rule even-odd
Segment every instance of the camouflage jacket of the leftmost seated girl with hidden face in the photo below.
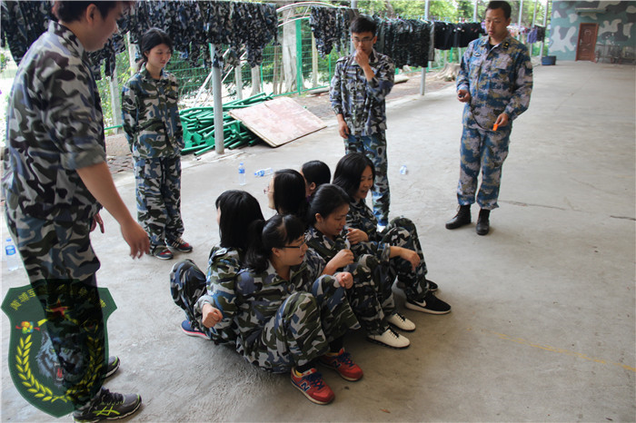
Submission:
{"label": "camouflage jacket of the leftmost seated girl with hidden face", "polygon": [[[194,313],[203,316],[204,304],[211,304],[222,313],[232,315],[236,311],[234,287],[236,275],[241,271],[243,251],[215,246],[208,261],[206,284],[207,293],[194,304]],[[236,339],[234,320],[221,320],[211,329],[219,338],[233,341]]]}

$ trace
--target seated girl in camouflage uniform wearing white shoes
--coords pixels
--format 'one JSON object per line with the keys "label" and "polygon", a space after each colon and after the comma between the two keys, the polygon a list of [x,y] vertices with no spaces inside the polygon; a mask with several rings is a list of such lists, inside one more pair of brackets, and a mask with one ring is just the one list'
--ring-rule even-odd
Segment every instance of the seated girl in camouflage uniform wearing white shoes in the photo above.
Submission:
{"label": "seated girl in camouflage uniform wearing white shoes", "polygon": [[[367,339],[395,349],[409,346],[406,337],[389,328],[389,324],[399,330],[412,331],[415,325],[395,310],[393,293],[382,290],[386,284],[380,262],[371,254],[355,254],[347,245],[345,228],[347,212],[349,212],[349,195],[337,185],[323,184],[314,192],[310,205],[310,225],[305,233],[309,248],[318,253],[324,261],[325,274],[335,271],[351,271],[354,266],[362,266],[367,271],[357,280],[354,274],[354,286],[370,284],[370,292],[351,290],[349,301],[353,312],[367,331]],[[357,271],[357,270],[356,270]],[[353,307],[353,296],[363,307]],[[386,297],[384,297],[386,296]],[[385,318],[386,316],[386,318]]]}

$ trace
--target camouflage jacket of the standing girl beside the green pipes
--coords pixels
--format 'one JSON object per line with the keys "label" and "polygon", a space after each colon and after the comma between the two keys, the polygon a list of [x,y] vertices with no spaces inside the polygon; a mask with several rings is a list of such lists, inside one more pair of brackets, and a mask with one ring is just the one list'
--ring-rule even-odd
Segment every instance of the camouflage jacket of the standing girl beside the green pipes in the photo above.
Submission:
{"label": "camouflage jacket of the standing girl beside the green pipes", "polygon": [[177,156],[184,148],[174,74],[161,71],[155,80],[145,67],[122,90],[124,132],[134,159]]}

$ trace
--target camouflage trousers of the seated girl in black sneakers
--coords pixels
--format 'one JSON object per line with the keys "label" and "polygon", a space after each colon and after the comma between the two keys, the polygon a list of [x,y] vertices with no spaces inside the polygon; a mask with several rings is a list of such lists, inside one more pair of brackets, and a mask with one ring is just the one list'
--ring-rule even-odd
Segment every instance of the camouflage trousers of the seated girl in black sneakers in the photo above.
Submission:
{"label": "camouflage trousers of the seated girl in black sneakers", "polygon": [[397,217],[389,223],[389,225],[381,232],[383,242],[393,247],[402,247],[408,250],[416,251],[420,256],[420,264],[412,270],[411,262],[401,257],[393,257],[389,259],[388,265],[384,265],[386,271],[386,281],[383,289],[384,295],[389,295],[392,290],[395,278],[404,284],[404,294],[407,300],[422,301],[429,291],[429,283],[426,280],[426,261],[422,252],[422,245],[417,236],[415,224],[408,218],[403,216]]}

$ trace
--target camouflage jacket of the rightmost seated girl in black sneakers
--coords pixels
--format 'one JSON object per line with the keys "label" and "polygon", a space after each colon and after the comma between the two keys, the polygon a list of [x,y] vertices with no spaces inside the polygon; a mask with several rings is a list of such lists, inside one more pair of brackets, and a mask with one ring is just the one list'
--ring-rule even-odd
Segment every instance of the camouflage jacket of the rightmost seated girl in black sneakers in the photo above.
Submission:
{"label": "camouflage jacket of the rightmost seated girl in black sneakers", "polygon": [[352,245],[352,251],[358,254],[373,254],[382,262],[389,261],[391,245],[383,242],[382,234],[378,232],[378,220],[364,200],[349,203],[347,226],[366,232],[369,241]]}

